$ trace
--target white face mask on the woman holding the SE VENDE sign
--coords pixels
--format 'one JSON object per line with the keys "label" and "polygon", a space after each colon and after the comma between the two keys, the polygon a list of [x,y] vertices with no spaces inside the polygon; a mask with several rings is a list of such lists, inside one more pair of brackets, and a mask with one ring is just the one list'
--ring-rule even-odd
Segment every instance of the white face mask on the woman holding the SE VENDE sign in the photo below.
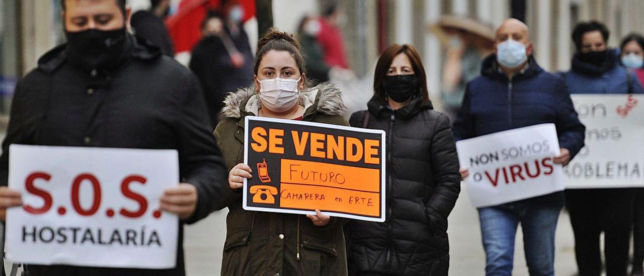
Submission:
{"label": "white face mask on the woman holding the SE VENDE sign", "polygon": [[285,112],[298,104],[299,79],[263,79],[260,81],[261,105],[272,112]]}

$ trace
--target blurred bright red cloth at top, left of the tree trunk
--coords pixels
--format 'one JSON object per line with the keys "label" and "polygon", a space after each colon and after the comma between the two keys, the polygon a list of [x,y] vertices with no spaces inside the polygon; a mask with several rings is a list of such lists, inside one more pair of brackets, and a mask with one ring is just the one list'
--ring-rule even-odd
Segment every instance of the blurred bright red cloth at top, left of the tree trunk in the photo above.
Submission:
{"label": "blurred bright red cloth at top, left of the tree trunk", "polygon": [[[255,16],[255,0],[238,0],[244,9],[243,21]],[[178,11],[166,19],[175,52],[191,51],[201,39],[201,23],[208,10],[220,8],[220,0],[182,0]]]}

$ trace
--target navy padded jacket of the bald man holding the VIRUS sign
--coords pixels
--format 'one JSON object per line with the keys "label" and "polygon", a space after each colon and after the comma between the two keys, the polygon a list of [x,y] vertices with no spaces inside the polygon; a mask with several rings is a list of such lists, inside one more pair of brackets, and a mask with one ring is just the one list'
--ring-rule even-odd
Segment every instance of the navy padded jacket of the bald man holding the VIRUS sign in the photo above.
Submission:
{"label": "navy padded jacket of the bald man holding the VIRUS sign", "polygon": [[[508,79],[500,72],[496,55],[483,61],[481,76],[466,88],[459,115],[452,128],[457,140],[535,124],[554,123],[559,146],[571,158],[583,147],[585,126],[579,121],[564,80],[545,72],[531,56],[525,72]],[[538,198],[563,204],[563,192]]]}

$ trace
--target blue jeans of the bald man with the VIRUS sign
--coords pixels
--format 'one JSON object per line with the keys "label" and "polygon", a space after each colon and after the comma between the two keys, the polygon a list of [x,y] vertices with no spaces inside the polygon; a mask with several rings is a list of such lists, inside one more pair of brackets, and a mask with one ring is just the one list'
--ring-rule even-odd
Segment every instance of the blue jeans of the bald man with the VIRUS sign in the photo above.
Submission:
{"label": "blue jeans of the bald man with the VIRUS sign", "polygon": [[562,207],[519,201],[479,208],[486,275],[512,275],[519,222],[528,272],[531,276],[554,275],[554,232]]}

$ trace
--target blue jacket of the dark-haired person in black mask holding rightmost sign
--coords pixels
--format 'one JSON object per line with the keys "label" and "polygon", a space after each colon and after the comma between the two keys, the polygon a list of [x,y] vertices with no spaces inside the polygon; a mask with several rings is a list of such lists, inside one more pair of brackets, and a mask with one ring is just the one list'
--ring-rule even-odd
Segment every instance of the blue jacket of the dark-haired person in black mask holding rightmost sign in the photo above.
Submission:
{"label": "blue jacket of the dark-haired person in black mask holding rightmost sign", "polygon": [[638,77],[620,65],[619,52],[609,50],[607,61],[603,66],[584,63],[574,55],[572,68],[562,77],[571,94],[627,94],[644,93]]}

